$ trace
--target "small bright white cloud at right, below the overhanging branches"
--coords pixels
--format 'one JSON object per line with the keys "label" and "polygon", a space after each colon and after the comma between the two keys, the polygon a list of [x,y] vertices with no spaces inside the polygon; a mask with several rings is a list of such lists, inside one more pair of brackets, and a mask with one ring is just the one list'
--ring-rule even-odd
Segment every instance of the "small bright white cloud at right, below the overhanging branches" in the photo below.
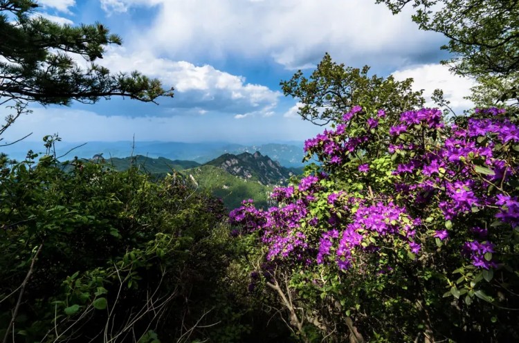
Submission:
{"label": "small bright white cloud at right, below the overhanging branches", "polygon": [[467,77],[459,77],[450,73],[448,66],[441,64],[424,64],[421,66],[412,66],[401,71],[392,73],[395,80],[405,80],[412,77],[412,88],[415,91],[424,89],[424,97],[427,101],[427,106],[435,106],[430,99],[432,92],[435,89],[444,91],[444,98],[450,101],[450,107],[457,111],[469,109],[473,106],[470,100],[464,99],[470,95],[471,87],[475,85],[475,81]]}

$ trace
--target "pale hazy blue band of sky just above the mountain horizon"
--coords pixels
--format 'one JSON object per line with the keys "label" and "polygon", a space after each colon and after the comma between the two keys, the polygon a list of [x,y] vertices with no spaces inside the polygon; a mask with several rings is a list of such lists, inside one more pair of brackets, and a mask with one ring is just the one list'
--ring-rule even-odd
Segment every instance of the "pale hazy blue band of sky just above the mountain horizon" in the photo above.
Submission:
{"label": "pale hazy blue band of sky just above the mountain horizon", "polygon": [[[88,108],[95,110],[93,106]],[[3,142],[12,142],[33,132],[28,141],[39,140],[39,147],[42,146],[41,138],[53,133],[58,133],[63,142],[132,140],[135,134],[136,141],[250,143],[280,138],[302,141],[322,131],[321,127],[309,122],[289,120],[280,115],[268,120],[252,114],[244,114],[247,120],[235,120],[234,115],[131,118],[56,106],[33,110],[34,113],[18,118],[4,133]],[[16,145],[12,147],[16,148]]]}

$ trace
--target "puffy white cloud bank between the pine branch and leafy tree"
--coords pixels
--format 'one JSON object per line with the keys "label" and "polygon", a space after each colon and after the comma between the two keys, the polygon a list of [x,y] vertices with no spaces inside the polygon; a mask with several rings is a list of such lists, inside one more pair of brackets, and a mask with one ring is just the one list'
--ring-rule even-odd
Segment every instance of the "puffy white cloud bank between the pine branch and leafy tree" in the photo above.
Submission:
{"label": "puffy white cloud bank between the pine branch and leafy tree", "polygon": [[[174,86],[175,98],[166,106],[232,114],[272,115],[281,93],[267,86],[246,82],[245,77],[219,71],[213,66],[154,57],[149,51],[127,53],[111,48],[100,61],[111,71],[138,70]],[[163,102],[164,103],[164,102]]]}

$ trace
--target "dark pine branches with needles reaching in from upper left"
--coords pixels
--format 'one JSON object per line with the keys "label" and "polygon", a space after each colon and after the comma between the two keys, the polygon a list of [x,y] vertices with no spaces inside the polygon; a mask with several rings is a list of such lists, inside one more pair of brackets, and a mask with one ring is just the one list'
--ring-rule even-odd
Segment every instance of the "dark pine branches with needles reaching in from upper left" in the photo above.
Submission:
{"label": "dark pine branches with needles reaching in from upper left", "polygon": [[[61,26],[39,17],[37,8],[33,0],[0,0],[0,104],[15,109],[0,134],[27,112],[28,102],[69,105],[113,95],[154,102],[173,95],[137,71],[113,74],[95,64],[104,46],[121,44],[102,24]],[[78,66],[78,57],[90,63],[88,68]]]}

